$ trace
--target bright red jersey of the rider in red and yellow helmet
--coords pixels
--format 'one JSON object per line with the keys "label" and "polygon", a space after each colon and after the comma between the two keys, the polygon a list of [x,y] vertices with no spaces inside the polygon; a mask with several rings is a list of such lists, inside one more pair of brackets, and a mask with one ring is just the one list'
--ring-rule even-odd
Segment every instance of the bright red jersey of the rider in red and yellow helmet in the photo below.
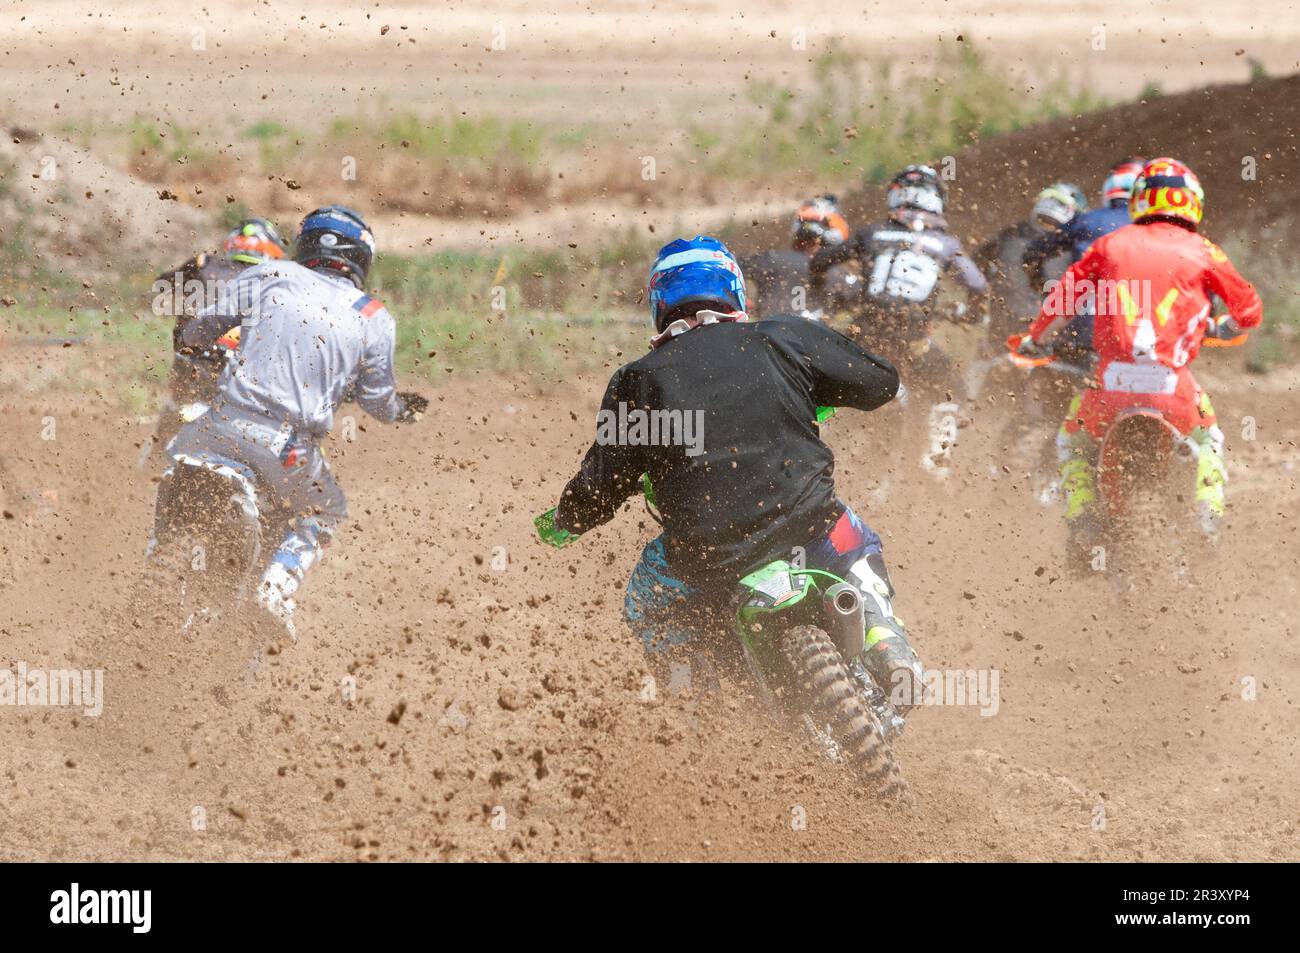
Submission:
{"label": "bright red jersey of the rider in red and yellow helmet", "polygon": [[1083,313],[1080,306],[1095,307],[1092,346],[1102,378],[1113,361],[1179,369],[1200,351],[1212,293],[1242,328],[1258,326],[1260,295],[1217,244],[1173,222],[1126,225],[1070,265],[1030,334],[1041,339]]}

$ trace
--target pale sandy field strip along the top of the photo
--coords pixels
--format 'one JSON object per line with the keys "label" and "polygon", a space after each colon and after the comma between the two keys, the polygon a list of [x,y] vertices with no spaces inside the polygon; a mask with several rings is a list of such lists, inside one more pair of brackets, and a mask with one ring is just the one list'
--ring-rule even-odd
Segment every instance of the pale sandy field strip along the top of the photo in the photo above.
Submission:
{"label": "pale sandy field strip along the top of the photo", "polygon": [[698,108],[706,91],[723,103],[749,75],[801,83],[831,43],[907,62],[962,34],[996,62],[1070,73],[1124,98],[1147,82],[1174,91],[1244,79],[1238,51],[1275,73],[1297,66],[1292,0],[1230,16],[1204,0],[1040,0],[1032,17],[1024,12],[988,0],[760,0],[742,9],[559,0],[545,10],[523,0],[124,0],[91,13],[70,0],[17,0],[0,13],[0,90],[29,118],[57,103],[64,118],[229,111],[307,121],[303,109],[391,101],[650,122]]}

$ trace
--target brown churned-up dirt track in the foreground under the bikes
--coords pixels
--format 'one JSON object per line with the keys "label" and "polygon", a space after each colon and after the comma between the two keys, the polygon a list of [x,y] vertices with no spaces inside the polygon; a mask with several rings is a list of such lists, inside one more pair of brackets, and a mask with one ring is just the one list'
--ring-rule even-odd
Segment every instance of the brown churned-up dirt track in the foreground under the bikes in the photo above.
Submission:
{"label": "brown churned-up dirt track in the foreground under the bikes", "polygon": [[0,855],[1296,858],[1294,380],[1216,387],[1230,434],[1247,413],[1260,426],[1231,442],[1223,558],[1199,593],[1126,614],[1105,581],[1058,577],[1057,515],[1018,475],[989,475],[997,404],[963,430],[950,491],[914,481],[879,507],[868,424],[836,421],[841,491],[885,534],[927,663],[1001,672],[996,716],[914,716],[900,757],[919,806],[896,816],[742,686],[720,711],[642,701],[619,618],[647,536],[637,507],[562,554],[530,540],[598,384],[476,377],[419,428],[335,443],[354,521],[311,579],[302,640],[255,676],[238,637],[187,646],[124,605],[150,517],[147,428],[72,398],[6,404],[5,664],[108,672],[101,718],[0,710]]}

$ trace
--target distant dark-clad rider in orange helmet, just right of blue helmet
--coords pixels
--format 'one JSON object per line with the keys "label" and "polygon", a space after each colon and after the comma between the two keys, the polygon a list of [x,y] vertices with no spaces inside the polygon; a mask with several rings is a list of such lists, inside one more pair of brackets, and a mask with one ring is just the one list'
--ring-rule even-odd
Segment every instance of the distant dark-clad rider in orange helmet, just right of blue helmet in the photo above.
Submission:
{"label": "distant dark-clad rider in orange helmet, just right of blue helmet", "polygon": [[751,291],[751,317],[818,313],[820,303],[810,300],[809,261],[820,248],[842,244],[848,238],[849,224],[833,195],[819,195],[800,205],[790,248],[774,248],[740,261]]}

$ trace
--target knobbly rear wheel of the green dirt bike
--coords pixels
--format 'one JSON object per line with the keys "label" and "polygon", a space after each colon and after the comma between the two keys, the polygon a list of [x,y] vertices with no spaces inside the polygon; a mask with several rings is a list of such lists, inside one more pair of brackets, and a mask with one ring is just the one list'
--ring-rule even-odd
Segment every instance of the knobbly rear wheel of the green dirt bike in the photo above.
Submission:
{"label": "knobbly rear wheel of the green dirt bike", "polygon": [[789,670],[797,710],[810,719],[812,732],[833,742],[872,793],[910,802],[911,792],[893,750],[831,637],[812,625],[797,625],[781,637],[781,658]]}

